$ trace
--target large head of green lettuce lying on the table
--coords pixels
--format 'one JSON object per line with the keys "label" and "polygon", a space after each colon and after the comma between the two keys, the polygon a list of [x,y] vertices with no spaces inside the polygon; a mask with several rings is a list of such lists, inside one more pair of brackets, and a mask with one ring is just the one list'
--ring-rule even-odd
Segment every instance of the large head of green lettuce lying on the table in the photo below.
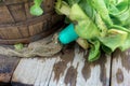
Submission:
{"label": "large head of green lettuce lying on the table", "polygon": [[55,10],[91,45],[89,61],[99,59],[101,49],[110,54],[130,48],[130,0],[57,0]]}

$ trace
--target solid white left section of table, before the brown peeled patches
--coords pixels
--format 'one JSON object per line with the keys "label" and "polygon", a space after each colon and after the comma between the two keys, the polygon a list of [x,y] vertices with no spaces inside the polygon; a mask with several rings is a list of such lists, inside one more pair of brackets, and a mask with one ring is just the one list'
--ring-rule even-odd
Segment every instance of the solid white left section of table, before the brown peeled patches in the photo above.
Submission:
{"label": "solid white left section of table, before the brown peeled patches", "polygon": [[36,85],[46,83],[51,76],[51,71],[57,58],[52,59],[22,59],[13,74],[13,86],[17,84]]}

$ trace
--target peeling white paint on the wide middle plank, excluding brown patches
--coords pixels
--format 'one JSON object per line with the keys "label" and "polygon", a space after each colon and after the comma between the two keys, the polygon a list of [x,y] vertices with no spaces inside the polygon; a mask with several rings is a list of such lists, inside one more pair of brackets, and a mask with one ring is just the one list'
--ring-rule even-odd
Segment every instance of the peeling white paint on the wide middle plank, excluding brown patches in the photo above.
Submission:
{"label": "peeling white paint on the wide middle plank, excluding brown patches", "polygon": [[[86,81],[82,75],[82,69],[84,67],[86,59],[83,58],[83,52],[79,52],[79,47],[75,48],[75,57],[72,62],[67,63],[64,74],[60,76],[58,81],[54,81],[54,63],[61,61],[60,56],[56,58],[43,58],[43,59],[22,59],[13,74],[12,81],[20,81],[24,84],[32,84],[35,86],[69,86],[65,85],[65,76],[69,67],[77,69],[76,86],[103,86],[100,80],[101,66],[91,66],[90,77]],[[67,58],[67,57],[66,57]],[[110,57],[107,56],[105,63],[106,77],[109,78]]]}

